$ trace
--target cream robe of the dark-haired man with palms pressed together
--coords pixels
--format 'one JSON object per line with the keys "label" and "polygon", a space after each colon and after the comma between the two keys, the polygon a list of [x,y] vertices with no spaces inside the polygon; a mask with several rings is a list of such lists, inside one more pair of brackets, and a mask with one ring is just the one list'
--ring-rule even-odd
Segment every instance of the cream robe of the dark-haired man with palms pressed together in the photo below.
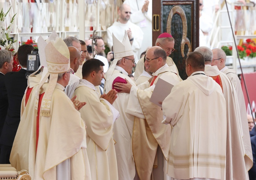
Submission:
{"label": "cream robe of the dark-haired man with palms pressed together", "polygon": [[[86,84],[85,84],[86,83]],[[89,85],[89,86],[88,86]],[[80,109],[86,123],[87,153],[93,180],[118,180],[113,123],[110,103],[100,98],[96,88],[82,79],[74,91],[77,99],[87,104]],[[113,117],[114,116],[114,117]]]}

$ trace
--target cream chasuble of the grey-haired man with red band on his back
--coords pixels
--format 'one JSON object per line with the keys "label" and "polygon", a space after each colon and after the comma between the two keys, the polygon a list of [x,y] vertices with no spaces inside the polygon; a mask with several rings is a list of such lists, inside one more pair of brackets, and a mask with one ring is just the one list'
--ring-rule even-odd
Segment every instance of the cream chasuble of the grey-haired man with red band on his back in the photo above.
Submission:
{"label": "cream chasuble of the grey-haired man with red band on his back", "polygon": [[205,65],[205,74],[211,77],[219,76],[226,100],[227,109],[227,150],[226,150],[226,179],[247,179],[245,165],[245,148],[242,140],[238,98],[235,87],[229,77],[220,72],[217,66]]}

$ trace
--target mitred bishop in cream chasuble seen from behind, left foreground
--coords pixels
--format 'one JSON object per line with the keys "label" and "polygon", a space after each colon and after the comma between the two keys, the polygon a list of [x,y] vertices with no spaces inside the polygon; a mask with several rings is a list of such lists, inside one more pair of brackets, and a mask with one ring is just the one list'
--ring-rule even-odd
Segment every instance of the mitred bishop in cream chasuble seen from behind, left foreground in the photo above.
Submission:
{"label": "mitred bishop in cream chasuble seen from behind, left foreground", "polygon": [[[29,173],[30,166],[34,166],[31,173],[38,180],[91,180],[85,123],[63,91],[70,75],[68,47],[56,38],[46,45],[45,52],[48,72],[34,87],[36,93],[31,92],[35,100],[28,101],[35,107],[31,137],[26,142],[29,143],[29,152],[26,152]],[[45,83],[49,75],[49,83]]]}

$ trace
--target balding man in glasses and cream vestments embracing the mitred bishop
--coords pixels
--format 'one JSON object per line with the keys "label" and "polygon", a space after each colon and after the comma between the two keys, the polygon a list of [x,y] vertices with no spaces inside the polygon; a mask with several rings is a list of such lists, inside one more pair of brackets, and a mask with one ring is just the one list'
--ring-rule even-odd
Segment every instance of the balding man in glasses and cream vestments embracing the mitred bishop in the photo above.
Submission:
{"label": "balding man in glasses and cream vestments embracing the mitred bishop", "polygon": [[[145,55],[145,67],[153,77],[132,86],[130,82],[114,84],[120,93],[130,93],[126,113],[135,116],[132,134],[132,152],[140,180],[167,179],[164,166],[167,163],[171,127],[161,124],[161,108],[149,101],[155,84],[162,75],[177,83],[179,78],[174,65],[166,64],[166,53],[158,46],[148,49]],[[118,95],[120,94],[118,93]]]}

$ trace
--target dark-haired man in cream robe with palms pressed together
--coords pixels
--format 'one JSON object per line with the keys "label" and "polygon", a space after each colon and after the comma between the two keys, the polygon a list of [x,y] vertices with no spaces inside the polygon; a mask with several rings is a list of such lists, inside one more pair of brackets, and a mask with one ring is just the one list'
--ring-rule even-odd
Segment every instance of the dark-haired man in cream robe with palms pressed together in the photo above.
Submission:
{"label": "dark-haired man in cream robe with palms pressed together", "polygon": [[95,86],[104,78],[104,63],[98,59],[87,60],[82,67],[80,80],[74,95],[87,105],[80,110],[86,123],[87,153],[91,178],[118,180],[113,124],[119,112],[112,106],[117,91],[110,90],[100,96]]}

